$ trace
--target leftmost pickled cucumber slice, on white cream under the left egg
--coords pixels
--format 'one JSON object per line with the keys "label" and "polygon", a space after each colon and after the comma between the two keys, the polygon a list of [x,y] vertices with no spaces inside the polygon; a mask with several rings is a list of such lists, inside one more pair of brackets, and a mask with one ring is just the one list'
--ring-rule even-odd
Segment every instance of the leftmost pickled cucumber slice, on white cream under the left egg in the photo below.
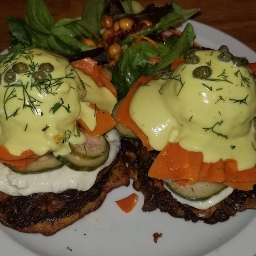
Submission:
{"label": "leftmost pickled cucumber slice, on white cream under the left egg", "polygon": [[[7,165],[7,164],[5,164]],[[36,160],[34,160],[30,165],[28,165],[24,170],[18,170],[15,166],[7,165],[10,169],[20,174],[30,174],[39,173],[50,170],[59,169],[64,164],[63,162],[56,159],[51,153],[43,155]]]}

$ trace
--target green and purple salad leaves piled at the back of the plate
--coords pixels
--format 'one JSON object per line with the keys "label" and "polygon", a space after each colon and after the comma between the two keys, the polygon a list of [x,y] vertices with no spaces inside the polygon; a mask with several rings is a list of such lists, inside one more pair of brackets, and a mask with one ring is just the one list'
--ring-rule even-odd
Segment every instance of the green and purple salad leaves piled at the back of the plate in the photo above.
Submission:
{"label": "green and purple salad leaves piled at the back of the plate", "polygon": [[[156,76],[168,70],[173,60],[193,47],[195,34],[190,23],[180,37],[164,38],[162,33],[179,26],[199,12],[197,8],[184,10],[177,3],[169,2],[164,7],[150,4],[135,13],[133,2],[132,0],[86,0],[81,18],[63,18],[55,21],[43,0],[28,0],[25,19],[7,17],[12,35],[9,52],[22,48],[45,48],[66,57],[81,53],[83,53],[81,56],[85,57],[87,51],[96,47],[82,43],[82,39],[92,38],[97,43],[102,42],[103,15],[111,15],[114,21],[129,17],[134,21],[136,25],[134,27],[137,29],[121,36],[117,35],[120,36],[118,44],[122,46],[122,54],[114,67],[109,68],[118,98],[123,98],[140,76]],[[146,28],[139,27],[137,24],[141,20],[149,20],[153,25]],[[136,41],[136,36],[142,35],[154,40],[157,47],[147,40]],[[150,59],[156,56],[159,56],[161,61],[151,63]],[[5,55],[0,56],[0,61],[3,58]]]}

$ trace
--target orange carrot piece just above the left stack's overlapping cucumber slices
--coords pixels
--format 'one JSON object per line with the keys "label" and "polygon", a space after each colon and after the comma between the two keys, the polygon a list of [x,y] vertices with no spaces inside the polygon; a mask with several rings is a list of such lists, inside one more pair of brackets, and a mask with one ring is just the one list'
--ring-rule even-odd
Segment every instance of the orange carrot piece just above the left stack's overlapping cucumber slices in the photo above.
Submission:
{"label": "orange carrot piece just above the left stack's overlapping cucumber slices", "polygon": [[86,123],[82,121],[82,119],[79,119],[77,121],[79,126],[85,129],[86,133],[94,137],[97,137],[108,132],[109,130],[111,130],[116,126],[116,122],[114,121],[113,117],[108,111],[98,109],[95,104],[90,104],[90,107],[95,109],[95,114],[96,114],[95,129],[91,131],[89,127],[86,125]]}

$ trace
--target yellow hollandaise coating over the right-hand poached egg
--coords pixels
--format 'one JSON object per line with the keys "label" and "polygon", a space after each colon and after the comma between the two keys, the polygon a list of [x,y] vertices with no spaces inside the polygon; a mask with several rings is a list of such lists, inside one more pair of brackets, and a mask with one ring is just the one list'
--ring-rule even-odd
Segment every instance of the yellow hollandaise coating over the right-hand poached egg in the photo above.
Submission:
{"label": "yellow hollandaise coating over the right-hand poached egg", "polygon": [[256,165],[256,82],[250,70],[199,50],[197,64],[182,63],[166,78],[140,86],[129,106],[131,118],[161,151],[178,142],[201,151],[204,162],[234,159],[238,169]]}

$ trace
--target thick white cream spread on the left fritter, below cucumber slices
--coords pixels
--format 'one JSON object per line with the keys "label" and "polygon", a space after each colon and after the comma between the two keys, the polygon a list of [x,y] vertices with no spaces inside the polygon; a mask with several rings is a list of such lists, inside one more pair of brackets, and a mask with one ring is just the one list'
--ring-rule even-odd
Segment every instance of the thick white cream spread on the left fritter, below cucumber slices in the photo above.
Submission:
{"label": "thick white cream spread on the left fritter, below cucumber slices", "polygon": [[97,174],[113,162],[121,147],[120,138],[114,129],[105,137],[110,144],[108,159],[95,171],[74,171],[63,166],[39,174],[19,174],[0,164],[0,191],[12,196],[27,196],[39,192],[59,193],[70,188],[89,190],[94,185]]}

